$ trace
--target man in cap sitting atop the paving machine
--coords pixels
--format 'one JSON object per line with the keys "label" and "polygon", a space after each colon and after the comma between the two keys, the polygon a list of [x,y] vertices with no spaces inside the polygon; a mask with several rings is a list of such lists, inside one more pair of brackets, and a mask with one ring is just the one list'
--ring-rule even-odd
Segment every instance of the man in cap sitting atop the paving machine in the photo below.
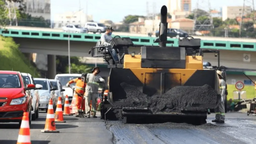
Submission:
{"label": "man in cap sitting atop the paving machine", "polygon": [[[110,50],[110,52],[112,53],[116,64],[119,64],[120,62],[119,62],[119,58],[116,53],[116,49],[113,49],[110,45],[111,39],[112,39],[111,35],[112,35],[113,31],[114,31],[114,29],[112,27],[107,28],[106,32],[101,34],[99,42],[101,42],[101,45],[107,46],[107,49]],[[97,45],[98,45],[98,43],[97,43]]]}

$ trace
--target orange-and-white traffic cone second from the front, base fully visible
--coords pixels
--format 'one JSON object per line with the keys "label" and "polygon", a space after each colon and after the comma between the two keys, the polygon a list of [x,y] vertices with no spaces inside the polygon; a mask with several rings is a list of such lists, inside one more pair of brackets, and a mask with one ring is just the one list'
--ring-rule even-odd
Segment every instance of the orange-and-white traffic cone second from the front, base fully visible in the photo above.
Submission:
{"label": "orange-and-white traffic cone second from the front, base fully visible", "polygon": [[60,132],[60,131],[56,130],[53,106],[52,106],[52,99],[50,99],[50,101],[49,101],[44,130],[41,130],[41,132],[57,132],[57,133]]}

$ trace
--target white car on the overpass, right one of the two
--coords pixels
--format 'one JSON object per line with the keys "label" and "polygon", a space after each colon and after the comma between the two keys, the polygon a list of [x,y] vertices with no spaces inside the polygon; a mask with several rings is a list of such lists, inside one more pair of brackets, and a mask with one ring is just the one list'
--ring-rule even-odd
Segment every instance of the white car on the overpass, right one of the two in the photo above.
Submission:
{"label": "white car on the overpass, right one of the two", "polygon": [[87,28],[88,32],[93,32],[95,34],[95,33],[105,33],[107,26],[98,22],[87,22],[85,23],[84,28]]}

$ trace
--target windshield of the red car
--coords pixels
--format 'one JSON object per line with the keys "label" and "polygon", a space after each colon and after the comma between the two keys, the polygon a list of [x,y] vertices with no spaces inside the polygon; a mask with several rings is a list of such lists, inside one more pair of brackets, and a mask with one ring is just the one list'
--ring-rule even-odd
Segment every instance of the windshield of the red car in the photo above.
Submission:
{"label": "windshield of the red car", "polygon": [[0,74],[0,88],[21,88],[19,76]]}

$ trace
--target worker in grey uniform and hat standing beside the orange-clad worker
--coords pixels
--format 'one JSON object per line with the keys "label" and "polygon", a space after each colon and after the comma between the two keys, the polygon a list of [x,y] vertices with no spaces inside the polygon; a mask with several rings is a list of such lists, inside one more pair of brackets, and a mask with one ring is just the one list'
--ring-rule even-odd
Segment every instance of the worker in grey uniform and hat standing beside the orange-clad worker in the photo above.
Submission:
{"label": "worker in grey uniform and hat standing beside the orange-clad worker", "polygon": [[90,118],[90,101],[92,100],[92,117],[97,118],[96,115],[96,100],[98,98],[98,90],[100,83],[105,83],[105,80],[98,76],[100,73],[100,68],[95,67],[92,69],[91,74],[87,74],[86,82],[87,85],[85,87],[85,116]]}

